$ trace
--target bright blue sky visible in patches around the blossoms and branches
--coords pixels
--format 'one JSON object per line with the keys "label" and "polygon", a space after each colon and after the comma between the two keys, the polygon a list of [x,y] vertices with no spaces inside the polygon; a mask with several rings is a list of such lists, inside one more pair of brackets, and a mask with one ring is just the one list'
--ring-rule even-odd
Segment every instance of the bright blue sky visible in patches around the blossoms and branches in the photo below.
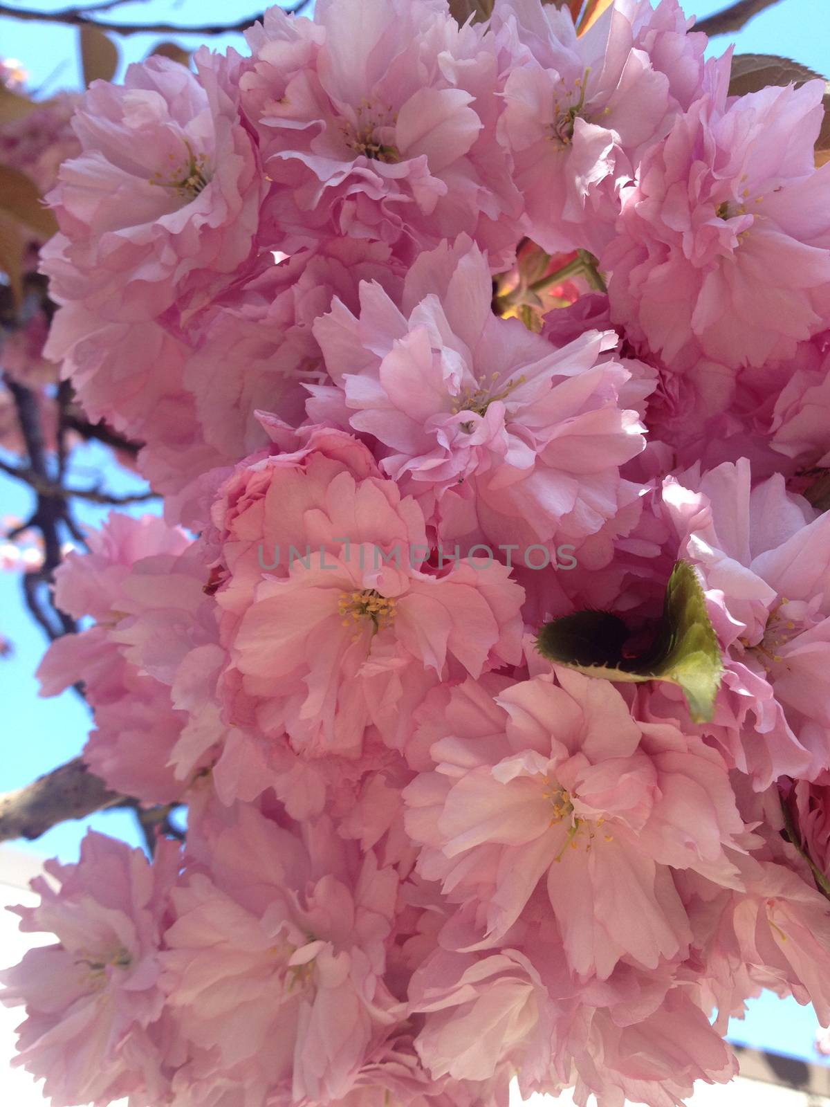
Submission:
{"label": "bright blue sky visible in patches around the blossoms and branches", "polygon": [[[58,11],[68,0],[27,0],[9,7],[37,8]],[[685,0],[686,12],[708,15],[725,7],[727,0]],[[249,13],[259,12],[256,3],[227,3],[227,0],[145,0],[125,3],[103,18],[123,23],[227,23],[236,22]],[[124,62],[138,61],[162,39],[174,39],[195,49],[201,41],[209,41],[214,49],[235,45],[245,48],[241,35],[219,35],[203,40],[183,34],[135,34],[120,38]],[[730,40],[713,40],[709,52],[720,53]],[[774,53],[809,65],[819,73],[830,75],[830,6],[827,0],[780,0],[756,17],[735,37],[738,52]],[[50,23],[20,22],[0,18],[0,56],[17,58],[30,74],[30,85],[42,89],[48,95],[58,89],[81,87],[77,63],[77,32],[72,28]],[[75,458],[77,483],[83,483],[83,472],[89,475],[101,466],[106,452],[100,447],[84,447]],[[135,479],[112,466],[106,469],[112,490],[126,492],[135,487]],[[25,517],[31,510],[31,498],[25,489],[0,474],[0,517]],[[146,510],[146,508],[145,508]],[[86,507],[79,515],[90,525],[101,521],[105,513]],[[40,773],[74,756],[83,745],[89,728],[89,714],[74,693],[54,700],[38,697],[34,670],[43,651],[42,634],[25,615],[20,601],[20,581],[17,575],[0,571],[0,633],[14,644],[14,655],[0,661],[0,703],[6,721],[2,735],[3,756],[0,757],[0,792],[27,784]],[[133,818],[127,813],[98,814],[80,823],[55,827],[39,841],[20,844],[41,856],[59,856],[74,860],[77,844],[89,825],[134,845],[139,844]],[[795,1001],[778,1001],[769,993],[751,1005],[744,1023],[733,1022],[732,1038],[756,1048],[770,1048],[778,1053],[816,1061],[812,1038],[817,1021],[811,1008],[801,1008]]]}

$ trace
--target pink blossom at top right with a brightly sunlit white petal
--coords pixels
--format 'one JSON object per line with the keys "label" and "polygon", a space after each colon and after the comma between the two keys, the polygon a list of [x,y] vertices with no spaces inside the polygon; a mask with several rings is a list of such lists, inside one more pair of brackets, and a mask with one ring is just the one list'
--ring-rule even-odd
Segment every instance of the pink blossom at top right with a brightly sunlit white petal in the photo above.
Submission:
{"label": "pink blossom at top right with a brightly sunlit white petal", "polygon": [[491,23],[525,230],[551,254],[599,254],[642,153],[699,95],[706,39],[686,34],[676,0],[614,3],[579,38],[566,6],[539,0],[499,0]]}

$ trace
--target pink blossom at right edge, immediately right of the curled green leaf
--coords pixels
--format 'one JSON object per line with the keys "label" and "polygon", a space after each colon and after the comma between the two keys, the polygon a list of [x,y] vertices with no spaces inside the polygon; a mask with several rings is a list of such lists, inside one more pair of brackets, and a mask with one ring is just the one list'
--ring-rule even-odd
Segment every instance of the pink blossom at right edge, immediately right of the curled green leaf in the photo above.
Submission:
{"label": "pink blossom at right edge, immediately right of the curled green leaf", "polygon": [[667,479],[678,556],[702,570],[725,652],[722,742],[756,787],[828,765],[828,527],[781,477],[749,464]]}

